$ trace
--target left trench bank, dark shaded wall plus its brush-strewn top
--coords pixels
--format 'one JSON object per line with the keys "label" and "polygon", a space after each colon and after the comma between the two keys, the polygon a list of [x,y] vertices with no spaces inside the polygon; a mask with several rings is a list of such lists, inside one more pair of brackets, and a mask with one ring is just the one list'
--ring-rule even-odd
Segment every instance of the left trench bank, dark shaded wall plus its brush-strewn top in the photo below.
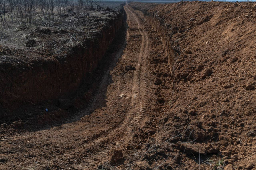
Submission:
{"label": "left trench bank, dark shaded wall plus its brush-strewn top", "polygon": [[[0,46],[0,108],[12,110],[74,93],[96,69],[123,16],[123,10],[74,12],[47,26],[23,28],[19,33],[26,35],[25,47]],[[8,111],[1,111],[4,116],[10,116]]]}

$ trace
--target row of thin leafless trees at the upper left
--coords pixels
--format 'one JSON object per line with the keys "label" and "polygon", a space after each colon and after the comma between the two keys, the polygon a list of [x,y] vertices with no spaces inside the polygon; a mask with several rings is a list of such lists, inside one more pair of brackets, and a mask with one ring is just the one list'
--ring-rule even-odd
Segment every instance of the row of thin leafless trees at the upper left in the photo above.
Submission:
{"label": "row of thin leafless trees at the upper left", "polygon": [[0,21],[32,23],[38,18],[54,20],[70,11],[101,9],[101,0],[0,0]]}

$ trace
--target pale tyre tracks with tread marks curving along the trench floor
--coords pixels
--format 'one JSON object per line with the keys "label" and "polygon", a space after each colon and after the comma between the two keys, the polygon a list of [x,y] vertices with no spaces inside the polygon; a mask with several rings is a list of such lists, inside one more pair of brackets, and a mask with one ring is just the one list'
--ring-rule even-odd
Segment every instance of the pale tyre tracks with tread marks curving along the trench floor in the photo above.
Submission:
{"label": "pale tyre tracks with tread marks curving along the trench floor", "polygon": [[[106,137],[99,138],[92,143],[85,145],[85,147],[92,147],[97,144],[101,144],[107,141],[114,141],[115,145],[109,148],[102,149],[97,153],[98,160],[105,160],[108,155],[108,151],[112,148],[118,148],[121,145],[125,145],[130,140],[132,140],[132,130],[137,127],[139,122],[143,119],[145,112],[148,107],[148,51],[149,51],[149,40],[145,31],[140,27],[140,22],[138,18],[134,15],[132,10],[128,8],[126,3],[124,7],[128,23],[130,23],[130,16],[132,16],[137,22],[137,28],[140,35],[142,36],[142,42],[140,47],[140,52],[138,56],[138,62],[136,65],[136,71],[134,72],[133,82],[132,82],[132,98],[134,98],[130,105],[132,106],[134,102],[138,104],[134,109],[128,111],[128,115],[123,121],[122,125],[117,129],[111,131]],[[128,17],[129,16],[129,17]],[[141,31],[142,30],[142,31]],[[128,34],[128,33],[127,33]],[[138,70],[138,71],[137,71]],[[136,93],[137,92],[137,93]],[[136,99],[137,98],[137,99]],[[135,100],[136,99],[136,100]],[[92,159],[92,158],[91,158]],[[103,163],[103,162],[102,162]],[[89,168],[90,166],[88,166]]]}

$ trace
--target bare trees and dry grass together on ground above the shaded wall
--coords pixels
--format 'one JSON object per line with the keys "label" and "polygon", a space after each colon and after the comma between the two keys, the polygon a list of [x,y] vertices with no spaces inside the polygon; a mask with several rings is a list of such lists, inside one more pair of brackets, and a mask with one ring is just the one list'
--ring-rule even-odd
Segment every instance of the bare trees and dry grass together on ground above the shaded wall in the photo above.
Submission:
{"label": "bare trees and dry grass together on ground above the shaded wall", "polygon": [[100,0],[0,0],[0,9],[0,63],[60,57],[117,16]]}

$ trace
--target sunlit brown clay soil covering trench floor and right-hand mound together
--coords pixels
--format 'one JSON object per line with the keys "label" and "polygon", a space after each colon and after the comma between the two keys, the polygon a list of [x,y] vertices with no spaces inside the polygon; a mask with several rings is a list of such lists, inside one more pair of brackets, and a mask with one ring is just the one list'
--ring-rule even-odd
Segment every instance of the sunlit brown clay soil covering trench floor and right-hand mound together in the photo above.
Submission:
{"label": "sunlit brown clay soil covering trench floor and right-hand mound together", "polygon": [[255,7],[126,4],[92,99],[2,124],[1,169],[255,169]]}

